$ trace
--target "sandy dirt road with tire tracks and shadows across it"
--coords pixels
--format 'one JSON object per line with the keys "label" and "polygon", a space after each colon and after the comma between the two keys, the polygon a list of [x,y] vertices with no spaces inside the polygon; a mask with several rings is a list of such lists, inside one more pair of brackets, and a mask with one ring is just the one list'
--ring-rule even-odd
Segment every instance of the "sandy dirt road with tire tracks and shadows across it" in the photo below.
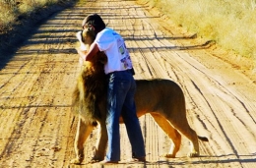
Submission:
{"label": "sandy dirt road with tire tracks and shadows across it", "polygon": [[[124,36],[136,79],[170,79],[182,87],[190,126],[210,140],[200,141],[202,157],[187,158],[189,142],[183,137],[177,157],[165,159],[160,155],[168,152],[170,140],[150,116],[143,116],[148,162],[112,167],[256,167],[255,72],[230,64],[242,63],[241,58],[224,61],[216,48],[195,43],[148,10],[147,4],[130,0],[89,1],[60,12],[32,33],[0,71],[1,168],[100,167],[87,164],[96,130],[86,141],[83,164],[69,164],[77,126],[70,108],[79,72],[75,33],[91,13]],[[131,149],[124,126],[121,145],[125,161]]]}

